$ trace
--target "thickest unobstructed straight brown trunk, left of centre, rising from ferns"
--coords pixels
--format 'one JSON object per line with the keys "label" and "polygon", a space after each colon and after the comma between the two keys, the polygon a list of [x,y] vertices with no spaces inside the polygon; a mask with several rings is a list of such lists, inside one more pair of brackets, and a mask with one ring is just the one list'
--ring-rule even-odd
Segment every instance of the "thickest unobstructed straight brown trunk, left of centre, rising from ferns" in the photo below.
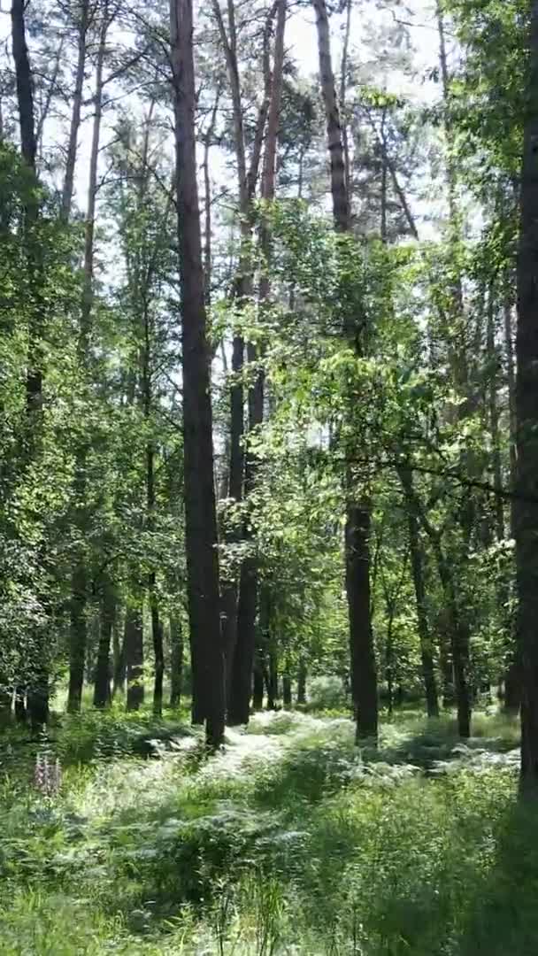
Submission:
{"label": "thickest unobstructed straight brown trunk, left of centre, rising from ferns", "polygon": [[185,550],[195,665],[193,695],[198,698],[197,706],[204,716],[207,745],[219,747],[225,732],[225,673],[194,127],[192,0],[172,0],[170,19],[182,295]]}

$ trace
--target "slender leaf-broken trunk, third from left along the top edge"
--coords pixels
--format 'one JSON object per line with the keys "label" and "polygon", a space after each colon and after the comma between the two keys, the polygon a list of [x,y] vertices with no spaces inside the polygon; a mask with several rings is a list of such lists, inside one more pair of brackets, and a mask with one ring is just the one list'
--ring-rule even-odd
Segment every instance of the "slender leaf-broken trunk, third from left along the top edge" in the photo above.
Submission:
{"label": "slender leaf-broken trunk, third from left along the top edge", "polygon": [[[84,269],[82,282],[82,301],[80,305],[80,328],[78,331],[78,366],[85,390],[88,376],[88,358],[90,349],[90,330],[92,309],[94,304],[94,232],[97,201],[97,164],[99,156],[99,141],[102,116],[103,67],[106,49],[106,34],[109,26],[108,8],[105,4],[102,13],[103,19],[99,34],[96,66],[96,95],[94,98],[95,114],[92,133],[92,149],[90,154],[90,177],[88,182],[88,206],[86,210],[86,225],[84,239]],[[83,541],[87,532],[88,509],[87,478],[88,441],[85,436],[78,438],[75,446],[75,514],[74,523],[80,541]],[[69,659],[69,691],[67,709],[70,713],[80,710],[82,687],[84,684],[84,661],[87,644],[87,601],[88,601],[88,573],[86,555],[82,544],[77,546],[75,566],[72,574],[71,598],[71,630],[70,630],[70,659]]]}

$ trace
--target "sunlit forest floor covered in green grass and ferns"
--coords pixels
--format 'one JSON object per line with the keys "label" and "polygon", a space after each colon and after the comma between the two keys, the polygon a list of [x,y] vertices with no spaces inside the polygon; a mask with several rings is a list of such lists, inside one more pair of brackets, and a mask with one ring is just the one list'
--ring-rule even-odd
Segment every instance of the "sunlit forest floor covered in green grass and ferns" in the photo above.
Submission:
{"label": "sunlit forest floor covered in green grass and ferns", "polygon": [[[183,723],[88,710],[0,750],[5,956],[534,956],[538,819],[516,722],[260,714],[206,758]],[[59,793],[32,783],[36,752]]]}

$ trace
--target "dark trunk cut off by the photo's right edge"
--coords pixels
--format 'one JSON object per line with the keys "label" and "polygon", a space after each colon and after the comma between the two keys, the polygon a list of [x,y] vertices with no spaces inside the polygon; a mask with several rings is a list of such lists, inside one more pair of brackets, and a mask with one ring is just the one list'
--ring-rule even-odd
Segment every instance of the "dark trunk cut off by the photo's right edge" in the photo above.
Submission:
{"label": "dark trunk cut off by the photo's right edge", "polygon": [[530,13],[518,252],[517,632],[522,667],[521,791],[538,797],[538,0]]}

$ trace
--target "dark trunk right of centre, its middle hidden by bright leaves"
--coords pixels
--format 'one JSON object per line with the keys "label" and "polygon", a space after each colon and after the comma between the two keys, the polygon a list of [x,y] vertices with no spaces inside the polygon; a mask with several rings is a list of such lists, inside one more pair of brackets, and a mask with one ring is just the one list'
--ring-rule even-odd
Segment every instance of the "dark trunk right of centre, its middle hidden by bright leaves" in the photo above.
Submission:
{"label": "dark trunk right of centre, its middle hidden by bright leaves", "polygon": [[[329,19],[325,0],[312,0],[316,14],[319,75],[327,120],[331,159],[331,192],[334,228],[350,230],[351,215],[346,188],[342,133],[331,59]],[[362,349],[357,335],[357,316],[346,315],[345,336],[357,355]],[[352,688],[355,700],[357,738],[377,738],[377,669],[370,607],[370,509],[355,500],[353,449],[346,449],[347,514],[345,534],[346,592],[350,619]]]}

